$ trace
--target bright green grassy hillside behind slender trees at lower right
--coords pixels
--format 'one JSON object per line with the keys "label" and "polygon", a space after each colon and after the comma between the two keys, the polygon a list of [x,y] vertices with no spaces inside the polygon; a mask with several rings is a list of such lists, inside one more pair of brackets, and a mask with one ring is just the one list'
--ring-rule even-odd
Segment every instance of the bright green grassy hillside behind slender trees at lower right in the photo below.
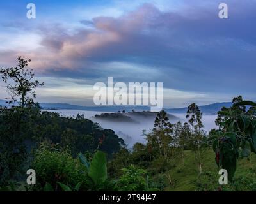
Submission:
{"label": "bright green grassy hillside behind slender trees at lower right", "polygon": [[[191,150],[184,151],[184,164],[180,163],[180,158],[175,158],[172,163],[173,168],[166,171],[170,175],[172,182],[166,178],[165,191],[218,191],[220,184],[218,179],[218,166],[214,161],[215,154],[211,149],[205,150],[202,154],[203,173],[198,176],[198,164],[195,160],[195,155]],[[256,191],[256,155],[252,154],[250,160],[239,159],[237,171],[234,180],[237,180],[239,187],[234,187],[228,184],[222,188],[227,191]],[[163,177],[157,175],[156,178]],[[239,181],[241,184],[239,184]],[[251,186],[254,187],[252,188]]]}

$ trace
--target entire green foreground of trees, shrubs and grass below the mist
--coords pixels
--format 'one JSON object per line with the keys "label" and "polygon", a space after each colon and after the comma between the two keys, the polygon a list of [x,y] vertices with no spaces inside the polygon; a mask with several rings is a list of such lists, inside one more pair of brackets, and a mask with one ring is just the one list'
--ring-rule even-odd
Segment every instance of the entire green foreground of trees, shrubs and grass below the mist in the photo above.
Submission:
{"label": "entire green foreground of trees, shrubs and grass below the mist", "polygon": [[[42,111],[33,99],[44,84],[33,80],[29,60],[18,61],[0,71],[12,105],[0,108],[2,191],[256,191],[254,102],[234,98],[209,133],[195,103],[185,123],[170,123],[162,110],[154,128],[143,131],[146,143],[130,150],[84,115]],[[28,169],[36,172],[35,185],[26,183]],[[220,169],[228,172],[227,185],[218,182]]]}

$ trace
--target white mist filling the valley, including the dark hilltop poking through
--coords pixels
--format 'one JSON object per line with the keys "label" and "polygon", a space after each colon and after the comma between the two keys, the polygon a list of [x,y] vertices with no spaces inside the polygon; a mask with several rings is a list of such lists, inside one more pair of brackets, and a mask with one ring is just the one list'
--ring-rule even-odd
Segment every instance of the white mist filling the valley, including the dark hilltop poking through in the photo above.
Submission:
{"label": "white mist filling the valley, including the dark hilltop poking through", "polygon": [[[93,122],[97,122],[104,129],[112,129],[116,135],[120,136],[125,141],[128,148],[136,142],[145,143],[143,137],[143,130],[150,131],[154,128],[154,120],[156,118],[156,112],[97,112],[90,110],[42,110],[49,112],[59,113],[65,117],[76,117],[77,114],[84,115],[86,119],[90,119]],[[95,115],[97,115],[95,117]],[[168,117],[172,124],[176,122],[187,122],[186,114],[184,113],[168,113]],[[204,130],[210,131],[216,128],[214,120],[216,115],[203,114],[202,121],[204,124]]]}

